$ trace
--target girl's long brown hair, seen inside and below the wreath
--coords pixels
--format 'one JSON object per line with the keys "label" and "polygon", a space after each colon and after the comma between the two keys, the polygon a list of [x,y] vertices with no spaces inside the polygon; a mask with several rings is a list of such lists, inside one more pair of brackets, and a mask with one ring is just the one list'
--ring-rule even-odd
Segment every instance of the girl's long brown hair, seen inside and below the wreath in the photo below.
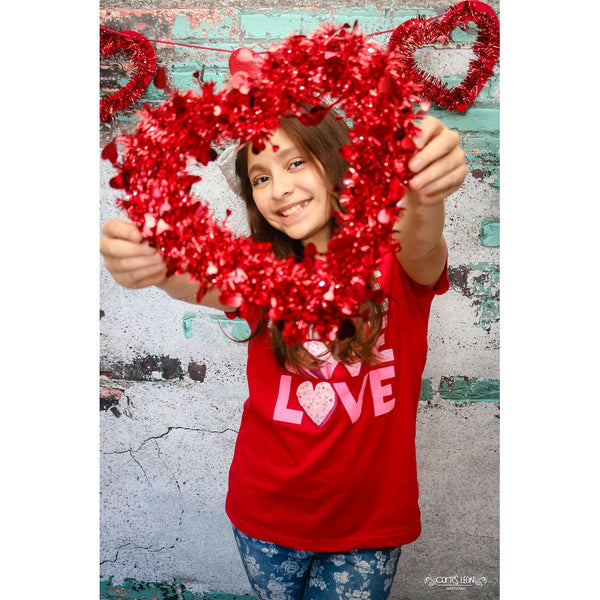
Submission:
{"label": "girl's long brown hair, seen inside and below the wreath", "polygon": [[[343,188],[344,175],[348,167],[346,160],[340,155],[340,149],[348,143],[348,126],[334,111],[329,110],[323,120],[316,125],[303,125],[295,117],[280,119],[284,133],[294,141],[304,155],[305,160],[324,171],[324,183],[337,206],[337,198]],[[236,173],[241,183],[241,195],[246,203],[250,234],[256,242],[270,242],[273,252],[278,258],[295,256],[301,260],[304,247],[300,240],[294,240],[285,233],[275,229],[262,216],[252,196],[252,182],[248,177],[248,152],[250,143],[243,146],[236,156]],[[322,169],[321,169],[322,168]],[[335,233],[335,219],[330,221],[331,234]],[[375,364],[377,352],[375,344],[379,339],[382,326],[381,305],[369,301],[366,307],[367,321],[354,319],[340,328],[342,334],[329,343],[328,349],[339,361],[347,364],[364,362]],[[280,324],[270,323],[263,319],[251,337],[257,335],[265,326],[269,326],[270,342],[278,365],[283,369],[317,368],[326,357],[315,357],[302,344],[288,345],[283,339]]]}

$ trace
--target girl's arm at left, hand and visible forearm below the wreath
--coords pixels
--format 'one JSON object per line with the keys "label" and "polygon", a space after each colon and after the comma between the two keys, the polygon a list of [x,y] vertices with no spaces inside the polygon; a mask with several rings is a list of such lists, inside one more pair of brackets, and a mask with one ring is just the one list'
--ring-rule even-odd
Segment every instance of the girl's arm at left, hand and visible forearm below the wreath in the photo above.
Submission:
{"label": "girl's arm at left, hand and visible forearm below the wreath", "polygon": [[[142,234],[133,223],[122,219],[107,221],[102,228],[100,252],[108,272],[118,284],[130,289],[154,285],[176,300],[196,304],[199,284],[190,281],[187,275],[167,277],[162,256],[143,242]],[[219,302],[219,291],[215,289],[209,290],[200,304],[234,310]]]}

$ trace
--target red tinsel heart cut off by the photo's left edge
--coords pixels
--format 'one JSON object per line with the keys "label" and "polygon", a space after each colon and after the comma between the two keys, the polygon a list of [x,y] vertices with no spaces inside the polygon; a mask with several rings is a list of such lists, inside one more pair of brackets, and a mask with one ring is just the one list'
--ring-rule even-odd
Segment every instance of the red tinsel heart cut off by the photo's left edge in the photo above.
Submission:
{"label": "red tinsel heart cut off by the photo's left edge", "polygon": [[130,58],[135,71],[124,87],[100,100],[101,123],[112,119],[117,111],[141,98],[156,71],[154,47],[141,33],[100,27],[100,54],[110,57],[117,52],[123,52]]}

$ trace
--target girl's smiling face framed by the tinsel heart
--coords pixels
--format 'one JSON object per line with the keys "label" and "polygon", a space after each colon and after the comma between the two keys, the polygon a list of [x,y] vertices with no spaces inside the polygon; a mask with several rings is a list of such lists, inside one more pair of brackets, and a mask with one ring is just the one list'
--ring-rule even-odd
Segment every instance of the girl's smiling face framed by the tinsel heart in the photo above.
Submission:
{"label": "girl's smiling face framed by the tinsel heart", "polygon": [[333,208],[322,165],[305,155],[282,129],[265,149],[247,149],[252,197],[265,220],[304,246],[312,242],[327,251]]}

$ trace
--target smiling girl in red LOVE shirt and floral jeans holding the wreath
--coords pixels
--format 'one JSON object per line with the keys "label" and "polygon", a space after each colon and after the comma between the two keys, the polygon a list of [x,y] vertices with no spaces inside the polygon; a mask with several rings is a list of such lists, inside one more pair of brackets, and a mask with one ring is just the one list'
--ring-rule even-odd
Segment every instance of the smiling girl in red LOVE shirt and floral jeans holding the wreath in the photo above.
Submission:
{"label": "smiling girl in red LOVE shirt and floral jeans holding the wreath", "polygon": [[[248,319],[249,397],[226,510],[261,599],[384,600],[401,545],[420,534],[415,426],[427,324],[434,296],[449,286],[444,199],[466,175],[458,135],[430,116],[420,129],[394,230],[401,249],[382,256],[373,274],[384,303],[371,303],[366,322],[355,319],[327,344],[287,345],[260,307]],[[271,242],[278,257],[301,257],[312,242],[327,260],[347,139],[330,112],[315,126],[282,119],[263,151],[239,151],[255,241]],[[166,278],[133,224],[107,222],[100,249],[119,284],[156,285],[195,302],[198,284]],[[234,310],[216,289],[201,304]]]}

